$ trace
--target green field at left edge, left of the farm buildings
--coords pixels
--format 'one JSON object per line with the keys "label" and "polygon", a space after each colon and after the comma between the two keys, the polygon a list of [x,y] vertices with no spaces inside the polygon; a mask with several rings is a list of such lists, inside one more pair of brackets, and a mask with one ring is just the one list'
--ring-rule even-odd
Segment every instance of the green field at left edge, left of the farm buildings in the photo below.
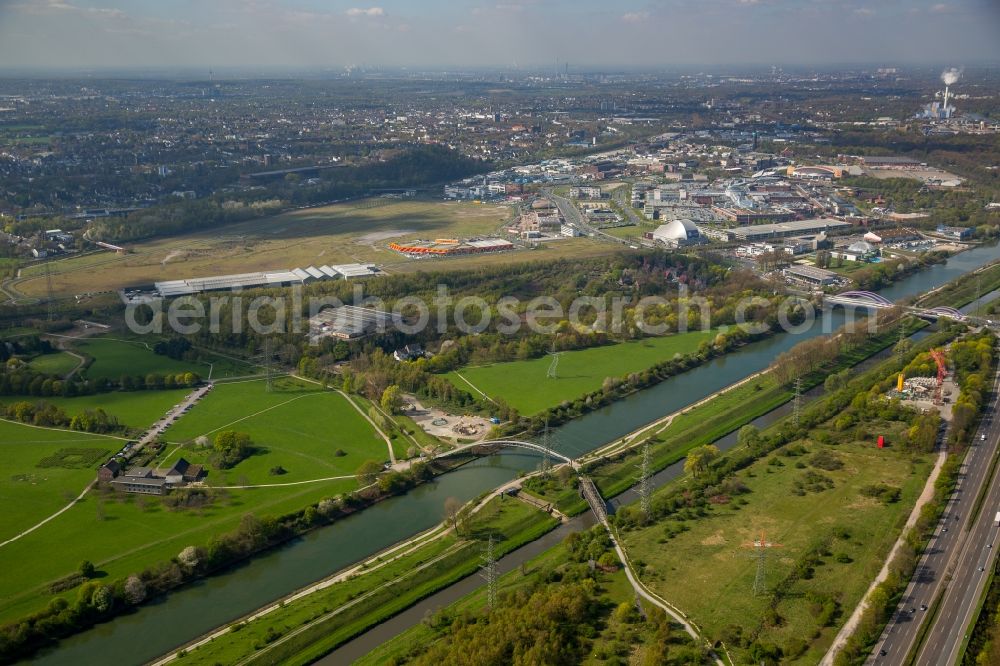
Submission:
{"label": "green field at left edge, left of the farm buildings", "polygon": [[0,512],[0,541],[66,506],[96,476],[96,466],[80,458],[65,456],[59,465],[40,467],[43,459],[69,449],[86,449],[104,458],[121,446],[110,437],[0,421],[0,504],[16,507]]}

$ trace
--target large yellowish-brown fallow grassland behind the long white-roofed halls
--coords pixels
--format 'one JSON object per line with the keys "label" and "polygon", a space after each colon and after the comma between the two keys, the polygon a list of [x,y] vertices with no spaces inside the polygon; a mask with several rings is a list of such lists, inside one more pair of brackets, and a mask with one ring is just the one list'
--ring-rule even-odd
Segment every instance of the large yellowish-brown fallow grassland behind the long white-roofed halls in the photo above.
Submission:
{"label": "large yellowish-brown fallow grassland behind the long white-roofed halls", "polygon": [[[57,294],[113,290],[158,280],[203,277],[310,264],[413,262],[389,250],[392,240],[468,237],[492,233],[509,214],[505,206],[438,200],[392,201],[366,208],[358,202],[293,211],[220,229],[128,243],[130,253],[98,253],[50,263]],[[514,253],[518,254],[518,253]],[[44,270],[25,269],[26,294],[45,293]]]}

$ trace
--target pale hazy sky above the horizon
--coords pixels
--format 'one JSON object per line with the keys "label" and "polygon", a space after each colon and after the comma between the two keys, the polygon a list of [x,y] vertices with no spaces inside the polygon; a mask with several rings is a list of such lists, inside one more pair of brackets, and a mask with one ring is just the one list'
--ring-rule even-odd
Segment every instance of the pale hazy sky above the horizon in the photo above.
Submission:
{"label": "pale hazy sky above the horizon", "polygon": [[0,66],[1000,60],[1000,0],[0,0]]}

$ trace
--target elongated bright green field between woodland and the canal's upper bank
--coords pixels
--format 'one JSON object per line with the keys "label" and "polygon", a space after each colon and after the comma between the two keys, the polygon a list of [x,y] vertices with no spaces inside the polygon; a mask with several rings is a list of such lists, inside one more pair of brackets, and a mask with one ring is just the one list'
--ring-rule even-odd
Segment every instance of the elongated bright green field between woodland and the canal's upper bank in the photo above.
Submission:
{"label": "elongated bright green field between woodland and the canal's upper bank", "polygon": [[522,414],[530,415],[595,391],[607,377],[639,372],[674,354],[697,351],[698,345],[715,339],[717,334],[714,330],[691,331],[565,352],[559,357],[556,378],[546,376],[551,356],[463,368],[447,377],[463,390],[475,393],[470,382],[486,395],[501,397]]}

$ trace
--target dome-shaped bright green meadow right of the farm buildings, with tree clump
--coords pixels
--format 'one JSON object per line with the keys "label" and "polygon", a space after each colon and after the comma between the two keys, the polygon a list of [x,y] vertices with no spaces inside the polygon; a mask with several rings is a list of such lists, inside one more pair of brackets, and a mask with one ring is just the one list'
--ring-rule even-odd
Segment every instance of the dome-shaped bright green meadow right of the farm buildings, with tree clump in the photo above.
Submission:
{"label": "dome-shaped bright green meadow right of the farm buildings, with tree clump", "polygon": [[[246,432],[257,453],[229,470],[212,470],[212,485],[258,485],[350,476],[366,460],[388,460],[383,440],[339,393],[291,379],[264,390],[263,381],[218,384],[165,433],[169,442],[209,442],[223,430]],[[340,449],[344,455],[337,456]],[[178,456],[207,461],[210,448],[196,443],[167,447],[159,464]],[[286,473],[272,475],[273,467]]]}

